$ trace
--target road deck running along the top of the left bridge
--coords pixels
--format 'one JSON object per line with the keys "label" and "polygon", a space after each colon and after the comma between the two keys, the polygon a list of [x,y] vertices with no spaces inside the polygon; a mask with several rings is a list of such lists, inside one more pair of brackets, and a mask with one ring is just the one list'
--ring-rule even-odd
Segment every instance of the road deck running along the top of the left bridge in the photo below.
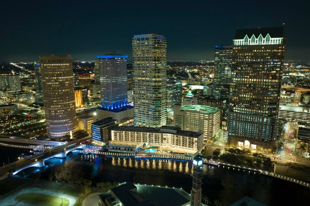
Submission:
{"label": "road deck running along the top of the left bridge", "polygon": [[31,156],[30,158],[24,159],[24,160],[18,160],[16,162],[11,163],[10,165],[5,165],[0,168],[0,177],[3,175],[8,174],[10,169],[19,169],[26,167],[28,165],[32,165],[36,162],[44,161],[46,159],[49,159],[51,156],[57,155],[61,152],[64,152],[65,150],[70,150],[72,148],[75,148],[82,144],[83,141],[91,139],[90,136],[84,137],[79,140],[73,140],[71,142],[68,142],[67,144],[54,147],[53,149],[40,153],[38,155]]}

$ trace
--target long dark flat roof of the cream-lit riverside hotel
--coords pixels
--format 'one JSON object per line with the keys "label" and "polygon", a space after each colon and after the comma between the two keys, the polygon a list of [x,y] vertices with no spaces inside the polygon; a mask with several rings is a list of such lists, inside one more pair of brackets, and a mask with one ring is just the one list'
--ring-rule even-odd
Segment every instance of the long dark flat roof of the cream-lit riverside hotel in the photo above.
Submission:
{"label": "long dark flat roof of the cream-lit riverside hotel", "polygon": [[155,127],[143,127],[143,126],[119,126],[112,130],[115,131],[136,131],[136,132],[151,132],[151,133],[163,133],[163,134],[177,134],[181,136],[198,138],[202,133],[194,131],[181,130],[177,126],[161,126],[159,128]]}

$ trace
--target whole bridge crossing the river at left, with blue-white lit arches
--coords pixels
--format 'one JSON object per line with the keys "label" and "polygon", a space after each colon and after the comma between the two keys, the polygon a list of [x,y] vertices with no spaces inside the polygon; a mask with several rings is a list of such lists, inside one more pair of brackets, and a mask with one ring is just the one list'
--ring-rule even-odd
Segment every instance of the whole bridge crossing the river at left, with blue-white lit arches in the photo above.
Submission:
{"label": "whole bridge crossing the river at left, with blue-white lit arches", "polygon": [[[64,145],[54,147],[48,151],[43,153],[33,155],[30,158],[18,160],[16,162],[10,163],[9,165],[4,165],[0,168],[0,180],[8,177],[10,173],[13,175],[18,173],[19,171],[26,169],[28,167],[36,166],[43,167],[44,161],[51,159],[53,157],[57,158],[66,158],[68,152],[82,147],[82,142],[90,140],[91,137],[87,136],[78,140],[73,140]],[[12,172],[13,170],[13,172]]]}

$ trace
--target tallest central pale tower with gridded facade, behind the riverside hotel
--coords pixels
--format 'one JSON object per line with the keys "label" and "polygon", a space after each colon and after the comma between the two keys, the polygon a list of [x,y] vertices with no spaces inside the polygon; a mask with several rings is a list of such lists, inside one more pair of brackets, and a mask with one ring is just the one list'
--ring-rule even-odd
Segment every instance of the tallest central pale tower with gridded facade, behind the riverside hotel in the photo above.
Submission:
{"label": "tallest central pale tower with gridded facade, behind the riverside hotel", "polygon": [[155,34],[132,39],[134,125],[166,124],[167,42]]}

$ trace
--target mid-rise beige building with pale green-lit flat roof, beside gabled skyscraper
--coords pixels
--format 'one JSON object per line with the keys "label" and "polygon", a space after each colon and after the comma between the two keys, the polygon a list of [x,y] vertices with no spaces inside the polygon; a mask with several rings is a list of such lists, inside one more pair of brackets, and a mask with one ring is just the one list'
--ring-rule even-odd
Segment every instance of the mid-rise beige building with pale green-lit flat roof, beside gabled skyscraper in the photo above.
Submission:
{"label": "mid-rise beige building with pale green-lit flat roof, beside gabled skyscraper", "polygon": [[212,141],[219,132],[220,110],[203,105],[175,105],[173,125],[189,131],[202,131],[204,140]]}

